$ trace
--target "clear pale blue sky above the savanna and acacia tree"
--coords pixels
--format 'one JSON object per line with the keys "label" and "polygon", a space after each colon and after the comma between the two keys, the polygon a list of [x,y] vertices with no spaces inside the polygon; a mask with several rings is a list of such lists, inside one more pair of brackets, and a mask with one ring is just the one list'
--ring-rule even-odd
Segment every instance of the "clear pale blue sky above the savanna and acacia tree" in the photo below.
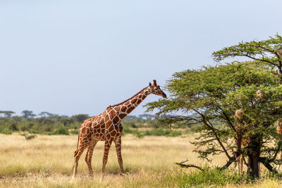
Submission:
{"label": "clear pale blue sky above the savanna and acacia tree", "polygon": [[213,64],[223,46],[281,35],[281,7],[281,0],[0,0],[0,110],[97,115],[153,79],[164,85],[176,71]]}

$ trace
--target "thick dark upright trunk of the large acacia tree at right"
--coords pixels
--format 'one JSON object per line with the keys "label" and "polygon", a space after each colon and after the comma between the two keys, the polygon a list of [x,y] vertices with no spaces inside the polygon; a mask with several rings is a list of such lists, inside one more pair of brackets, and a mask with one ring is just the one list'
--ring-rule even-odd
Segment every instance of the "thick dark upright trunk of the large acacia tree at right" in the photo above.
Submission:
{"label": "thick dark upright trunk of the large acacia tree at right", "polygon": [[247,174],[252,177],[259,177],[259,155],[261,149],[262,135],[250,137],[247,146]]}

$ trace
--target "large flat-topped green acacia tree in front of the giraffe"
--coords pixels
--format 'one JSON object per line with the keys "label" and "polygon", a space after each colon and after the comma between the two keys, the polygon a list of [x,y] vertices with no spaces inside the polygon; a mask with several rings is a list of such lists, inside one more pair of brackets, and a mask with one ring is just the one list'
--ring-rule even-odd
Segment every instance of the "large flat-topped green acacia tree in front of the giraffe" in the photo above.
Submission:
{"label": "large flat-topped green acacia tree in front of the giraffe", "polygon": [[[282,114],[282,86],[274,69],[281,71],[277,54],[281,42],[276,35],[215,52],[216,61],[233,56],[248,56],[254,61],[175,73],[166,84],[171,97],[147,104],[147,110],[157,109],[157,120],[167,125],[201,123],[197,130],[200,136],[192,142],[194,151],[207,160],[225,153],[228,161],[221,169],[243,154],[247,156],[247,173],[253,177],[259,177],[259,162],[276,173],[273,165],[281,163],[276,156],[282,137],[274,124]],[[237,110],[243,111],[240,119],[235,118]],[[233,142],[235,136],[237,144]],[[245,148],[241,147],[242,139],[247,140]]]}

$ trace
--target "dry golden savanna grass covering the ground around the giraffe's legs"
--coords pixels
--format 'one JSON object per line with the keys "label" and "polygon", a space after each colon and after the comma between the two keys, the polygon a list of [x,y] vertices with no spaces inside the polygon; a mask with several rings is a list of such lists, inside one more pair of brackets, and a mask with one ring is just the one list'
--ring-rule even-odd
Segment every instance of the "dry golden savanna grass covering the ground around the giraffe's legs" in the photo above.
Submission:
{"label": "dry golden savanna grass covering the ground around the giraffe's legs", "polygon": [[[203,165],[192,153],[192,135],[185,137],[123,137],[123,165],[128,175],[119,175],[114,144],[102,180],[104,142],[94,149],[94,176],[87,174],[84,153],[78,165],[78,177],[72,179],[76,136],[43,136],[25,140],[19,134],[0,134],[0,187],[178,187],[181,169],[174,162],[189,158]],[[214,159],[221,165],[224,156]],[[209,164],[210,165],[210,164]],[[194,170],[194,169],[189,169]],[[184,170],[188,173],[189,170]],[[274,180],[263,180],[252,187],[279,187]],[[245,185],[247,187],[247,185]],[[227,187],[234,187],[232,184]]]}

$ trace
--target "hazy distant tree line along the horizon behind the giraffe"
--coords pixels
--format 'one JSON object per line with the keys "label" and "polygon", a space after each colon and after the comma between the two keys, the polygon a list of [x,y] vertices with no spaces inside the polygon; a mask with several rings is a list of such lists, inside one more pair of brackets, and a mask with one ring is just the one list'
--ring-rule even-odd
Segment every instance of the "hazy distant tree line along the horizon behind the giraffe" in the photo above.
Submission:
{"label": "hazy distant tree line along the horizon behind the giraffe", "polygon": [[[78,134],[78,129],[84,120],[90,118],[87,114],[58,115],[43,111],[39,114],[33,111],[22,111],[16,115],[13,111],[0,111],[0,133],[28,132],[30,134]],[[153,127],[152,115],[128,115],[122,122],[125,133],[134,133],[137,127]],[[149,133],[148,133],[149,134]]]}

